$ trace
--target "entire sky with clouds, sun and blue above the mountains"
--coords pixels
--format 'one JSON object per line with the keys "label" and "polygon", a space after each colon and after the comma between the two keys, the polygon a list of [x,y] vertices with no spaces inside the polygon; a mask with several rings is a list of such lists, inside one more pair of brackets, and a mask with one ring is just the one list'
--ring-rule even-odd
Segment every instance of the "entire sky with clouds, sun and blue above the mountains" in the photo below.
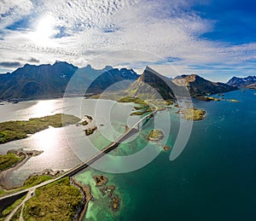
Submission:
{"label": "entire sky with clouds, sun and blue above the mountains", "polygon": [[256,75],[254,0],[0,0],[0,73],[26,63]]}

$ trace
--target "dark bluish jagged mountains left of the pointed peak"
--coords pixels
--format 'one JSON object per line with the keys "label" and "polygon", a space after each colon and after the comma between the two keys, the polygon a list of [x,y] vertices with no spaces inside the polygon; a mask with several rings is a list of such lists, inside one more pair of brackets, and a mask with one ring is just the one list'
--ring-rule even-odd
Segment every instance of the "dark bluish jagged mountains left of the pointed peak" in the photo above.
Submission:
{"label": "dark bluish jagged mountains left of the pointed peak", "polygon": [[83,95],[102,92],[121,80],[137,78],[137,73],[126,68],[107,66],[96,70],[90,65],[79,68],[63,61],[53,65],[26,64],[13,73],[0,74],[0,99],[49,98],[63,96],[65,91],[68,95]]}

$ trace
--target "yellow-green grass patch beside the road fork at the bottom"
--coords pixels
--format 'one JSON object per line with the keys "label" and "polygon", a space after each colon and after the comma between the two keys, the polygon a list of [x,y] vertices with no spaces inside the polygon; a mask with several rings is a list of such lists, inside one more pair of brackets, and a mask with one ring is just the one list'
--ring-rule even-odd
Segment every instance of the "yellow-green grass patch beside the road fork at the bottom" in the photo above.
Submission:
{"label": "yellow-green grass patch beside the road fork at the bottom", "polygon": [[35,196],[26,201],[24,220],[73,220],[83,195],[70,184],[68,177],[36,190]]}

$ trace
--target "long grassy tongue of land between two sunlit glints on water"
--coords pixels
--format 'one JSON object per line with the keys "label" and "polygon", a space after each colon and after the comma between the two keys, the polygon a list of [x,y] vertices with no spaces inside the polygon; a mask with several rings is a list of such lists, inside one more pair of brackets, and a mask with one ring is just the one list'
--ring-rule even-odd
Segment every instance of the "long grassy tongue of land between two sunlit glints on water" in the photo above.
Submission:
{"label": "long grassy tongue of land between two sunlit glints on water", "polygon": [[3,122],[0,123],[0,144],[26,138],[28,134],[47,129],[49,125],[61,127],[76,124],[79,120],[70,114],[56,113],[42,118]]}

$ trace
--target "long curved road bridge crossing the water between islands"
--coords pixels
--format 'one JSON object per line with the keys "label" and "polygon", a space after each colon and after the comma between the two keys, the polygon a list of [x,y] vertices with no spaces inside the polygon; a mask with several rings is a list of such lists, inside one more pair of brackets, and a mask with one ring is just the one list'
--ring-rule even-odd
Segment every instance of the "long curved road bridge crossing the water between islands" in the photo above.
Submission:
{"label": "long curved road bridge crossing the water between islands", "polygon": [[59,179],[61,179],[63,177],[73,177],[75,174],[77,174],[77,173],[79,173],[81,171],[84,171],[84,169],[89,167],[96,160],[99,160],[100,158],[102,158],[102,156],[104,156],[105,154],[108,154],[114,148],[117,148],[121,142],[124,142],[127,138],[129,138],[132,135],[136,134],[139,131],[140,124],[143,123],[143,120],[145,120],[145,122],[143,123],[143,125],[145,125],[148,122],[149,119],[154,118],[154,115],[156,113],[157,113],[157,108],[154,107],[154,112],[148,113],[142,119],[138,120],[135,125],[131,126],[131,128],[129,128],[127,131],[125,131],[125,133],[121,137],[119,137],[116,141],[110,143],[108,145],[108,147],[103,148],[98,154],[94,155],[89,160],[86,160],[85,162],[83,162],[79,166],[75,166],[72,170],[64,173],[60,177],[56,177],[55,179],[51,179],[51,180],[45,181],[44,183],[39,183],[38,185],[36,185],[36,186],[34,186],[32,188],[23,189],[23,190],[15,192],[13,194],[5,195],[3,197],[0,197],[0,205],[1,205],[1,207],[0,207],[0,214],[1,214],[1,212],[3,211],[3,209],[5,207],[13,204],[16,200],[18,200],[23,195],[26,195],[25,200],[22,201],[22,203],[19,206],[16,206],[15,210],[13,212],[11,212],[9,214],[9,216],[5,219],[5,220],[10,220],[13,217],[13,215],[15,214],[15,212],[18,211],[20,206],[24,206],[25,202],[28,201],[32,197],[31,193],[34,192],[35,189],[38,189],[38,188],[43,187],[45,185],[48,185],[49,183],[53,183],[53,182],[55,182],[55,181],[57,181],[57,180],[59,180]]}

